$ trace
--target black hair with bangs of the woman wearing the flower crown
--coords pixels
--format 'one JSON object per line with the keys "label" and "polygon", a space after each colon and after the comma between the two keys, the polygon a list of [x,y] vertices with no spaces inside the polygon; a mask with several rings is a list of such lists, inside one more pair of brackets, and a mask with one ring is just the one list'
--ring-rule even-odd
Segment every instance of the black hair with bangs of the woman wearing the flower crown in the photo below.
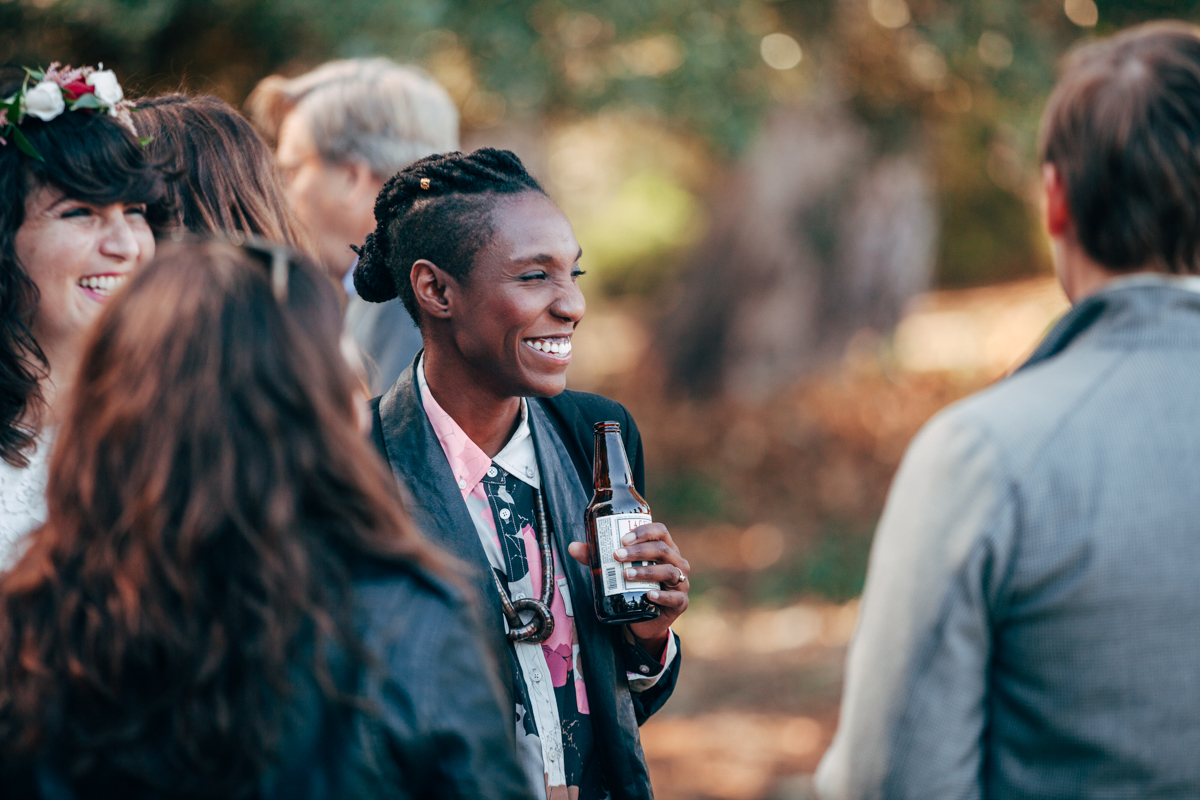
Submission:
{"label": "black hair with bangs of the woman wearing the flower crown", "polygon": [[[22,70],[0,68],[0,97],[20,89]],[[30,333],[37,287],[17,259],[17,231],[29,194],[52,186],[85,203],[154,203],[163,194],[162,169],[134,136],[106,114],[67,112],[49,122],[30,115],[20,125],[44,161],[0,145],[0,458],[25,467],[41,415],[38,381],[49,368]],[[152,227],[161,216],[148,215]]]}

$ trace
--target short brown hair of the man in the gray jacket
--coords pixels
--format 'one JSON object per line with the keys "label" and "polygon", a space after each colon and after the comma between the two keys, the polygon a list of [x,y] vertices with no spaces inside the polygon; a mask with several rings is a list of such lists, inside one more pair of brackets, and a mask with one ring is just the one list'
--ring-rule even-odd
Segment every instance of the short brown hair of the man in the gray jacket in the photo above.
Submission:
{"label": "short brown hair of the man in the gray jacket", "polygon": [[1042,163],[1084,251],[1115,272],[1200,271],[1200,35],[1152,23],[1067,56]]}

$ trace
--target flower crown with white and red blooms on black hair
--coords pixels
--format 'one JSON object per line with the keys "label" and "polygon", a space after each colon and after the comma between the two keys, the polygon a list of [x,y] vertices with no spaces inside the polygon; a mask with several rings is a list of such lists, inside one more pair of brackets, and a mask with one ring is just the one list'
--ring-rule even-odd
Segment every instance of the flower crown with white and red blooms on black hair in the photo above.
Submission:
{"label": "flower crown with white and red blooms on black hair", "polygon": [[[49,122],[64,112],[106,112],[137,136],[130,115],[132,108],[134,106],[125,100],[125,91],[116,82],[116,76],[112,70],[106,70],[103,64],[79,70],[64,67],[58,61],[46,71],[25,67],[20,91],[0,100],[0,145],[8,144],[6,137],[11,137],[17,149],[26,156],[46,161],[17,126],[28,115]],[[149,139],[138,142],[145,145]]]}

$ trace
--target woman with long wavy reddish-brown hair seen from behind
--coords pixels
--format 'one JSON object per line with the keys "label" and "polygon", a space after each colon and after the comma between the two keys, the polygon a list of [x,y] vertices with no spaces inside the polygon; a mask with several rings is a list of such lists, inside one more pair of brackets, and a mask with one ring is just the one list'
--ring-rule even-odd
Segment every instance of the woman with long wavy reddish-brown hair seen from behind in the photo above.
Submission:
{"label": "woman with long wavy reddish-brown hair seen from behind", "polygon": [[98,319],[0,579],[6,798],[528,796],[340,330],[316,266],[215,242]]}

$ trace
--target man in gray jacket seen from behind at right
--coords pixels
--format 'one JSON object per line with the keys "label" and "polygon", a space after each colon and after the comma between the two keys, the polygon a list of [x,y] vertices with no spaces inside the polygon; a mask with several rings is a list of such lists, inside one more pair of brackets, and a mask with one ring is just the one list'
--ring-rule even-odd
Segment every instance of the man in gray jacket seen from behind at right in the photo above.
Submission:
{"label": "man in gray jacket seen from behind at right", "polygon": [[912,443],[828,799],[1200,796],[1200,36],[1072,54],[1042,131],[1073,309]]}

